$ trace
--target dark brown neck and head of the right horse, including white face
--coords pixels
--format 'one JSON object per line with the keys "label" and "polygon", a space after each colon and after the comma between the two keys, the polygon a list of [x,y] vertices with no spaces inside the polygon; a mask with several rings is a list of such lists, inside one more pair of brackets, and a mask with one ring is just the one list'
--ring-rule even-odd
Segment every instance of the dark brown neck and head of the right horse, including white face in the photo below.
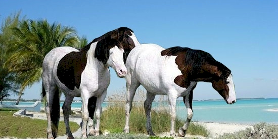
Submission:
{"label": "dark brown neck and head of the right horse, including white face", "polygon": [[[161,56],[177,56],[176,64],[183,76],[174,82],[187,87],[188,81],[211,82],[212,87],[224,98],[227,104],[236,102],[236,92],[231,71],[216,61],[209,53],[190,48],[173,47],[161,52]],[[189,82],[190,84],[190,82]]]}

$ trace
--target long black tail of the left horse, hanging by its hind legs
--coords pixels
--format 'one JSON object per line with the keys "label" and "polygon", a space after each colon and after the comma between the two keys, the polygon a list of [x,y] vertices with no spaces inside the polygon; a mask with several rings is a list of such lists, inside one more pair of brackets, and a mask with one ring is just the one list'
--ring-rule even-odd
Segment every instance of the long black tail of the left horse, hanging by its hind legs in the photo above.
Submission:
{"label": "long black tail of the left horse, hanging by its hind legs", "polygon": [[[41,97],[44,98],[45,95],[46,95],[46,92],[42,85]],[[59,96],[58,88],[54,92],[53,101],[49,102],[49,103],[52,103],[52,108],[50,109],[52,134],[54,137],[57,137],[58,125],[59,125],[59,119],[60,119],[60,96]],[[45,106],[47,106],[47,105],[49,106],[50,104],[45,103]]]}

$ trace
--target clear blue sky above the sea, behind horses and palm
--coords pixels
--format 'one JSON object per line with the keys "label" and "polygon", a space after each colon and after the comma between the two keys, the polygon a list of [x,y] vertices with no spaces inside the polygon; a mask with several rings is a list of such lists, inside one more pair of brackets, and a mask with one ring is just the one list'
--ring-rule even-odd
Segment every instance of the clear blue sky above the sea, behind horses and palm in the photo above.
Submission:
{"label": "clear blue sky above the sea, behind horses and palm", "polygon": [[[125,26],[141,43],[206,51],[231,70],[238,98],[278,98],[278,1],[9,0],[0,1],[0,23],[20,10],[88,40]],[[124,89],[125,80],[111,70],[108,96]],[[40,99],[40,92],[41,82],[22,98]],[[199,82],[194,100],[203,99],[221,97],[211,83]]]}

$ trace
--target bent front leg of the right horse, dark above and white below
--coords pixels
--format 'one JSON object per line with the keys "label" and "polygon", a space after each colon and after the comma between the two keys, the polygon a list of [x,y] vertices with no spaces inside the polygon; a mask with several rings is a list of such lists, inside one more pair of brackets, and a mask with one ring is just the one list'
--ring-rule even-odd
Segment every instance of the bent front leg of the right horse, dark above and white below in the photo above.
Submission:
{"label": "bent front leg of the right horse, dark above and white below", "polygon": [[192,111],[192,99],[193,99],[193,89],[190,91],[190,94],[183,97],[183,103],[186,105],[187,107],[187,121],[186,123],[184,123],[184,125],[182,127],[180,127],[178,129],[178,136],[185,136],[186,135],[186,131],[188,129],[188,126],[190,124],[190,121],[193,117],[193,111]]}

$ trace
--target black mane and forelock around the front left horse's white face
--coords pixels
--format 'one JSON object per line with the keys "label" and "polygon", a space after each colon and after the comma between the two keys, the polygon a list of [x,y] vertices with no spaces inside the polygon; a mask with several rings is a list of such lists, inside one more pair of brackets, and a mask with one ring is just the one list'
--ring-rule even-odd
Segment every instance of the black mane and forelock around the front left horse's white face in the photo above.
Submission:
{"label": "black mane and forelock around the front left horse's white face", "polygon": [[109,50],[115,47],[115,45],[119,49],[123,49],[122,44],[116,39],[105,38],[98,41],[95,50],[95,58],[97,58],[100,62],[103,63],[103,65],[106,66],[107,60],[109,59]]}

